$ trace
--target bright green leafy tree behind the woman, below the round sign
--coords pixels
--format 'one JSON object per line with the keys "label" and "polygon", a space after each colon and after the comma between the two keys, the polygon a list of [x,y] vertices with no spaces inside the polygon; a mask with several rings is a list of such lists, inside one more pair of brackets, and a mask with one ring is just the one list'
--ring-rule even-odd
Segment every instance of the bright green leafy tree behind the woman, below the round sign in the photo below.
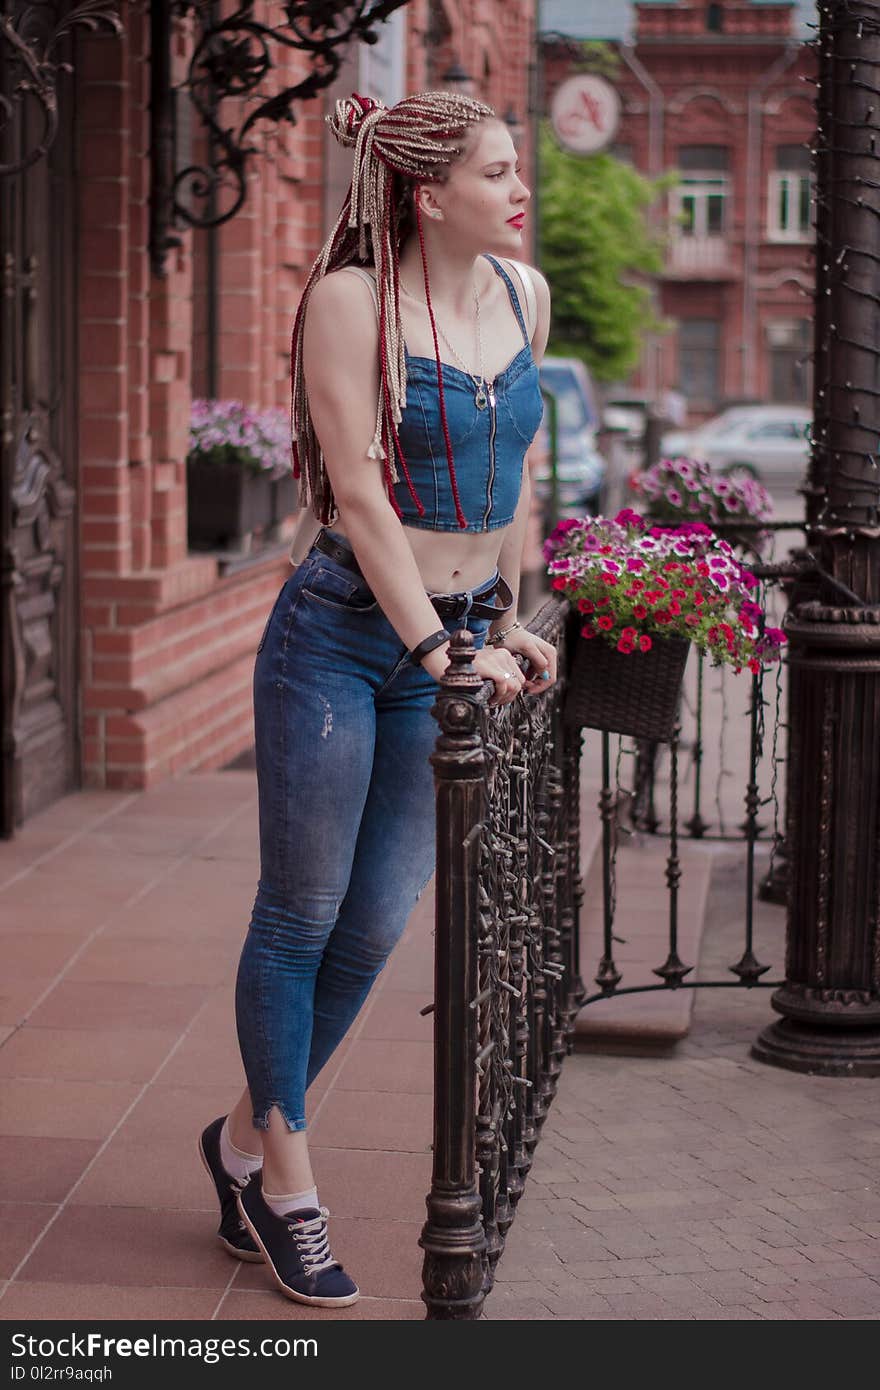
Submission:
{"label": "bright green leafy tree behind the woman, below the round sign", "polygon": [[551,352],[580,357],[599,381],[638,363],[658,320],[645,277],[663,267],[648,208],[670,178],[648,179],[612,154],[577,156],[541,132],[541,270],[553,299]]}

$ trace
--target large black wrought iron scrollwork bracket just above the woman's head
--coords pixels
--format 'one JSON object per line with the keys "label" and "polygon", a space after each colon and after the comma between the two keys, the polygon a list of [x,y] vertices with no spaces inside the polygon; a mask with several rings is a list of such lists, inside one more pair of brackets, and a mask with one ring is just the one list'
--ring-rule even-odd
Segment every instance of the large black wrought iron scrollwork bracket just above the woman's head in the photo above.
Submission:
{"label": "large black wrought iron scrollwork bracket just above the woman's head", "polygon": [[[296,104],[316,97],[329,86],[352,40],[377,43],[377,25],[407,0],[288,0],[285,22],[272,28],[254,15],[253,0],[245,0],[234,14],[221,17],[218,6],[163,0],[152,7],[154,64],[157,43],[170,53],[171,13],[193,11],[196,40],[185,79],[174,89],[156,90],[153,71],[153,120],[164,121],[165,147],[174,145],[168,122],[174,122],[175,97],[189,99],[207,132],[207,157],[174,168],[168,157],[153,168],[152,257],[156,274],[163,274],[170,246],[178,243],[175,225],[210,228],[228,222],[247,197],[247,168],[260,153],[260,132],[296,124]],[[292,86],[271,95],[260,88],[277,70],[279,49],[296,50],[311,60],[311,71]],[[160,70],[170,74],[171,64]],[[229,122],[231,113],[236,121]],[[156,131],[154,131],[156,133]],[[161,132],[160,132],[161,133]],[[158,149],[163,139],[153,140]]]}

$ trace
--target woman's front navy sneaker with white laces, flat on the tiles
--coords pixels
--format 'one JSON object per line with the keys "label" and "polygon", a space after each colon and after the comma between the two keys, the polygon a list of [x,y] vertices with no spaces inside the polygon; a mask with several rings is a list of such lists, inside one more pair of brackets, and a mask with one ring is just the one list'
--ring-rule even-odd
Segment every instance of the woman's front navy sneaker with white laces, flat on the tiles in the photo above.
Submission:
{"label": "woman's front navy sneaker with white laces, flat on the tiles", "polygon": [[263,1201],[263,1175],[254,1173],[238,1194],[238,1209],[282,1294],[317,1308],[357,1300],[357,1284],[329,1252],[327,1207],[275,1216]]}

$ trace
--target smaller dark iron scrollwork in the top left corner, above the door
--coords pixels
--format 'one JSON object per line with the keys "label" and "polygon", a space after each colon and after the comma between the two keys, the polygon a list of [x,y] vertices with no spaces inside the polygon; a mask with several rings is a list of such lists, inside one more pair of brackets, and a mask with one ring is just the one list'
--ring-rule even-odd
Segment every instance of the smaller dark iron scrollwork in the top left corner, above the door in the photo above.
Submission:
{"label": "smaller dark iron scrollwork in the top left corner, above the door", "polygon": [[0,61],[8,71],[8,92],[0,92],[0,138],[18,145],[18,118],[26,101],[36,101],[43,117],[36,143],[18,158],[0,163],[0,178],[22,174],[51,149],[58,132],[57,81],[72,72],[70,63],[58,61],[58,44],[74,29],[92,32],[106,26],[117,36],[122,32],[118,14],[108,0],[83,0],[53,28],[46,28],[44,6],[28,6],[13,17],[0,14]]}

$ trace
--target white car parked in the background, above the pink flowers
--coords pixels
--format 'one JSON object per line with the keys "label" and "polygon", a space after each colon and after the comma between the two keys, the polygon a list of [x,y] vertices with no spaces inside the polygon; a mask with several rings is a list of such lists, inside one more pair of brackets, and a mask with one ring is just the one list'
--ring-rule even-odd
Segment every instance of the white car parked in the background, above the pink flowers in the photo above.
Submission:
{"label": "white car parked in the background, above the pink flowers", "polygon": [[806,406],[731,406],[692,432],[665,435],[663,457],[705,459],[720,473],[748,474],[766,488],[797,486],[809,460]]}

